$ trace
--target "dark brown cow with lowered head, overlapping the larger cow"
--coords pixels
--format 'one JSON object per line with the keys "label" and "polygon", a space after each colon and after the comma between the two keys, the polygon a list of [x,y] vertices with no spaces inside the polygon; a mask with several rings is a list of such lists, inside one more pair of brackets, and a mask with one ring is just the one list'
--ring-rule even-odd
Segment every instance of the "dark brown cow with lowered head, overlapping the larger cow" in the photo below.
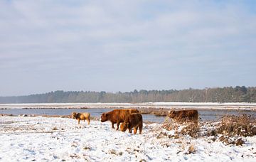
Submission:
{"label": "dark brown cow with lowered head, overlapping the larger cow", "polygon": [[129,133],[132,133],[132,128],[134,128],[134,134],[137,134],[137,129],[139,127],[139,134],[142,134],[142,114],[134,113],[129,114],[128,117],[124,119],[124,122],[121,124],[121,131],[126,131],[129,129]]}

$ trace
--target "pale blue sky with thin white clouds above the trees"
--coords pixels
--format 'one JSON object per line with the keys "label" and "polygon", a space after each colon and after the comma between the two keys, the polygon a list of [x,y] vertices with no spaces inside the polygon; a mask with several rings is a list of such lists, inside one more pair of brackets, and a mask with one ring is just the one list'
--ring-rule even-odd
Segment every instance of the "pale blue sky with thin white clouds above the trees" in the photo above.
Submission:
{"label": "pale blue sky with thin white clouds above the trees", "polygon": [[0,96],[255,83],[254,0],[0,0]]}

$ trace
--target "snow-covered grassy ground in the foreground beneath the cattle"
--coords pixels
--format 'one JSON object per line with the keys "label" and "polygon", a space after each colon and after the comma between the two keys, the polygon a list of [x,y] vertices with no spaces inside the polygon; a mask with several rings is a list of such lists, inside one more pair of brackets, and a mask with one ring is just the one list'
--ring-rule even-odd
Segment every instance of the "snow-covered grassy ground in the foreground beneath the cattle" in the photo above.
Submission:
{"label": "snow-covered grassy ground in the foreground beneath the cattle", "polygon": [[176,138],[161,124],[129,134],[110,121],[79,126],[68,118],[0,117],[0,161],[256,161],[256,136],[242,137],[242,146],[210,138]]}

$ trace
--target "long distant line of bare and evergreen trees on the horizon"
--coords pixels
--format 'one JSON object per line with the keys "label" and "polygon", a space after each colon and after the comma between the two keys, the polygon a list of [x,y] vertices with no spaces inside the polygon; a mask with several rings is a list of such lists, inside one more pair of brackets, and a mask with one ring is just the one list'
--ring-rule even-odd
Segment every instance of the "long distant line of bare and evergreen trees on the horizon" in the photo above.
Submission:
{"label": "long distant line of bare and evergreen trees on the horizon", "polygon": [[91,92],[58,90],[38,95],[0,97],[0,103],[54,102],[256,102],[256,87],[216,87],[203,90],[134,90]]}

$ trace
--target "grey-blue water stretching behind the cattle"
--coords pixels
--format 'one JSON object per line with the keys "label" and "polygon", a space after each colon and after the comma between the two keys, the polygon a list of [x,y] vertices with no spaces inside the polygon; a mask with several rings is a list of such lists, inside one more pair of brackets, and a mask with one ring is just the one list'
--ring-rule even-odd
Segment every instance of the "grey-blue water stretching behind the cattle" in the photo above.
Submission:
{"label": "grey-blue water stretching behind the cattle", "polygon": [[[113,109],[0,109],[0,114],[37,114],[37,115],[70,115],[72,112],[89,112],[92,117],[100,118],[103,112],[110,112]],[[201,121],[213,120],[218,121],[223,115],[241,115],[248,114],[252,117],[256,117],[256,113],[250,110],[223,110],[223,109],[211,109],[211,110],[198,110]],[[151,121],[161,123],[165,117],[156,117],[154,114],[142,114],[144,121]]]}

